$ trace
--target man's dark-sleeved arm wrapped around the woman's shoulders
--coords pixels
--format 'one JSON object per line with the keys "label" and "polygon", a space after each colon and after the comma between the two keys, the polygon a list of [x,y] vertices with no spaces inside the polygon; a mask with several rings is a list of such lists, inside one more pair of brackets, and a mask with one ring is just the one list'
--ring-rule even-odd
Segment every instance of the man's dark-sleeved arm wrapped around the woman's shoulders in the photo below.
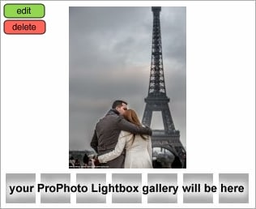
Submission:
{"label": "man's dark-sleeved arm wrapped around the woman's shoulders", "polygon": [[152,130],[149,127],[136,126],[131,122],[127,122],[125,118],[120,117],[117,123],[117,126],[120,130],[126,130],[132,134],[147,134],[151,135]]}

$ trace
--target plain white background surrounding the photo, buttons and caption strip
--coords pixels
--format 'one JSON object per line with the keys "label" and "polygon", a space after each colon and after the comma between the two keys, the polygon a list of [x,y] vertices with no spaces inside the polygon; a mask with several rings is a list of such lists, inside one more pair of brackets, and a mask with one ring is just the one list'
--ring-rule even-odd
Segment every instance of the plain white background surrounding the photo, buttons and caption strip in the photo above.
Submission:
{"label": "plain white background surrounding the photo, buttons and caption strip", "polygon": [[[2,1],[1,11],[5,3],[15,2]],[[2,207],[136,205],[76,205],[74,198],[71,205],[4,203],[6,173],[36,173],[37,178],[40,173],[71,173],[72,181],[75,173],[103,172],[67,168],[69,6],[186,6],[187,169],[109,169],[108,179],[110,173],[143,173],[145,181],[146,173],[160,172],[178,173],[181,181],[182,173],[214,173],[217,184],[219,173],[249,173],[249,204],[182,204],[181,201],[171,207],[255,206],[254,1],[38,3],[45,5],[44,35],[6,35],[1,30]],[[1,26],[4,20],[2,15]]]}

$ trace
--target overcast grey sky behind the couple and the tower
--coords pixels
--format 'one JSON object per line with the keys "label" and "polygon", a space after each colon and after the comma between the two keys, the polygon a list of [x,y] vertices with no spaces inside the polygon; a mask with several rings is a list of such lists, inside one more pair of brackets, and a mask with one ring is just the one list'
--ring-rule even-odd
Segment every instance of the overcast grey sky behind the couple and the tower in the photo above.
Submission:
{"label": "overcast grey sky behind the couple and the tower", "polygon": [[[142,120],[152,21],[151,7],[70,7],[70,150],[92,149],[113,100],[126,100]],[[186,147],[186,7],[162,7],[160,26],[169,108]],[[151,128],[164,129],[160,113]]]}

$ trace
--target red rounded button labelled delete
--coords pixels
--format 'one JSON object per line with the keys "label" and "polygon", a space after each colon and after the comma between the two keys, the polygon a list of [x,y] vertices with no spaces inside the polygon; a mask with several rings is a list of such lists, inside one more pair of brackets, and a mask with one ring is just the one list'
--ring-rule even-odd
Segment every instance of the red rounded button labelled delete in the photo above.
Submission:
{"label": "red rounded button labelled delete", "polygon": [[6,20],[3,23],[6,34],[44,34],[44,20]]}

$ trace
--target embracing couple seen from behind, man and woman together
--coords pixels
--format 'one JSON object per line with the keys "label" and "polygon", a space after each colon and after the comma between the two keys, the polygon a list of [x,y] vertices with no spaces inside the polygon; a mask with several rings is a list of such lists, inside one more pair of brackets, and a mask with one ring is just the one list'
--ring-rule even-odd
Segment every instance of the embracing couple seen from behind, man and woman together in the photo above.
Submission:
{"label": "embracing couple seen from behind, man and woman together", "polygon": [[104,168],[152,168],[151,134],[126,101],[114,101],[92,137],[91,147],[98,153],[95,163]]}

